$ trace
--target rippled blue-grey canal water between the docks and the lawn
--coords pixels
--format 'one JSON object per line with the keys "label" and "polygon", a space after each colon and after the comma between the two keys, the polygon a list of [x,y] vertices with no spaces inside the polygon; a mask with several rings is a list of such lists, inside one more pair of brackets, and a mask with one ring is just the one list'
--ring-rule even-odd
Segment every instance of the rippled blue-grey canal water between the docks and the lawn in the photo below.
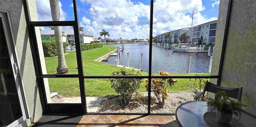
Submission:
{"label": "rippled blue-grey canal water between the docks and the lawn", "polygon": [[[122,44],[112,44],[119,46]],[[124,51],[120,52],[120,65],[128,66],[127,53],[130,56],[130,67],[141,68],[141,54],[143,54],[143,69],[148,72],[149,67],[149,45],[124,44]],[[152,73],[167,71],[168,73],[187,73],[188,56],[192,55],[190,73],[208,73],[210,57],[207,52],[172,52],[172,49],[152,46]],[[116,65],[117,56],[110,56],[108,64]]]}

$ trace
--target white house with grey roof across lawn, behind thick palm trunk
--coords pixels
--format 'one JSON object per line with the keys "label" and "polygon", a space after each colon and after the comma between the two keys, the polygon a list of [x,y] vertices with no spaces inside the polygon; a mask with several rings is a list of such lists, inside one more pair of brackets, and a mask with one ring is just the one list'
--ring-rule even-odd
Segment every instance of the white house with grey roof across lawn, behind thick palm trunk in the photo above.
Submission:
{"label": "white house with grey roof across lawn, behind thick palm trunk", "polygon": [[[90,44],[93,41],[92,34],[88,34],[82,31],[80,32],[80,43],[81,44]],[[63,42],[70,44],[70,42],[74,42],[74,30],[62,30],[62,33],[66,35],[66,37],[62,37]],[[54,36],[54,30],[41,30],[41,38],[42,40],[50,40],[51,37]]]}

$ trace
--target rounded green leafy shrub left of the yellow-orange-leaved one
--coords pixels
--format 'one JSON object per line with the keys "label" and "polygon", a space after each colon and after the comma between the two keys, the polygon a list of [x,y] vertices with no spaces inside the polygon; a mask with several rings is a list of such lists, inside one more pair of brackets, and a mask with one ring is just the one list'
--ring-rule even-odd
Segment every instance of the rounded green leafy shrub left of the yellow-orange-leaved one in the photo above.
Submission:
{"label": "rounded green leafy shrub left of the yellow-orange-leaved one", "polygon": [[[140,71],[134,68],[126,69],[124,67],[116,69],[112,75],[142,75]],[[132,94],[140,89],[141,78],[118,78],[110,79],[111,88],[115,89],[116,93],[120,94],[118,100],[123,107],[129,105]]]}

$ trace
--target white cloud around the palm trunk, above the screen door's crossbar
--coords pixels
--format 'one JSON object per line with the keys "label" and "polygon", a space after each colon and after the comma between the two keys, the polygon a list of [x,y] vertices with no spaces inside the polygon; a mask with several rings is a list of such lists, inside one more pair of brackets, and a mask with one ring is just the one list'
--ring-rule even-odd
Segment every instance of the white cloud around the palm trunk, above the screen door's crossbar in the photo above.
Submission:
{"label": "white cloud around the palm trunk, above the screen door's crossbar", "polygon": [[[66,20],[67,13],[62,10],[62,4],[59,1],[60,20]],[[36,0],[38,21],[52,21],[52,14],[49,0]]]}

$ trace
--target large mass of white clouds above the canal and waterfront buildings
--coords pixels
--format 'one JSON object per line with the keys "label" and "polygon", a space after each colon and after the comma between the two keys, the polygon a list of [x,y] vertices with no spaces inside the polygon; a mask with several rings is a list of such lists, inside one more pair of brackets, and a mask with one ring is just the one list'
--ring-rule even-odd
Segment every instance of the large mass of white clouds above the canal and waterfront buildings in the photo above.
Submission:
{"label": "large mass of white clouds above the canal and waterfront buildings", "polygon": [[[110,38],[149,38],[150,6],[130,0],[85,0],[80,1],[89,6],[90,19],[83,17],[80,26],[84,31],[98,38],[99,32],[106,29]],[[148,4],[150,4],[148,2]],[[206,8],[202,0],[156,0],[154,2],[153,36],[191,27],[216,20],[201,14]],[[86,10],[87,11],[87,10]]]}

